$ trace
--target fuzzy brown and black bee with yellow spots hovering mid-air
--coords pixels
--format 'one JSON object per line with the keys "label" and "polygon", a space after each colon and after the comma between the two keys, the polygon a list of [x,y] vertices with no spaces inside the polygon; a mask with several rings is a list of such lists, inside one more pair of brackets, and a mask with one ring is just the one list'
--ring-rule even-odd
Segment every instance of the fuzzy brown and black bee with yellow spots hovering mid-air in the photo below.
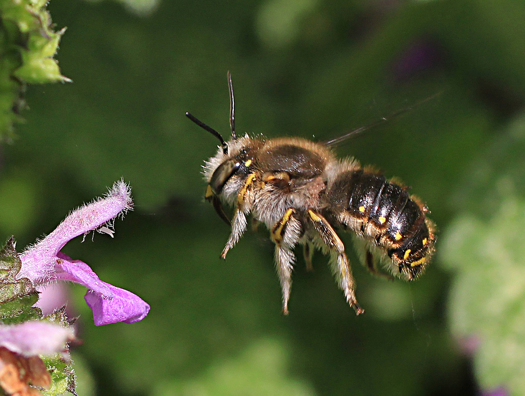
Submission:
{"label": "fuzzy brown and black bee with yellow spots hovering mid-air", "polygon": [[[387,180],[354,159],[339,160],[331,144],[302,138],[251,138],[235,133],[235,101],[228,72],[230,128],[225,141],[213,128],[190,113],[186,116],[219,141],[217,153],[204,165],[205,199],[232,227],[222,254],[226,257],[247,228],[247,216],[264,223],[275,244],[275,261],[282,290],[282,311],[288,314],[291,273],[296,245],[303,245],[307,268],[320,249],[348,304],[361,314],[355,282],[344,245],[336,230],[352,231],[364,264],[377,274],[377,262],[394,276],[413,280],[434,253],[434,225],[427,207],[406,187]],[[356,130],[354,132],[360,132]],[[234,206],[232,221],[222,203]]]}

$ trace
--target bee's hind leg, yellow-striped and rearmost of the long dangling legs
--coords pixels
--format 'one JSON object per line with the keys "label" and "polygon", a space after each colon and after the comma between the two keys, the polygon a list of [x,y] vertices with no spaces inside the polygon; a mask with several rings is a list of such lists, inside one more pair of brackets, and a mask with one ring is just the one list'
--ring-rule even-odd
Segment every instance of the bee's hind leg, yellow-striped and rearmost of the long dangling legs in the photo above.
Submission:
{"label": "bee's hind leg, yellow-striped and rearmost of the long dangling legs", "polygon": [[330,251],[330,264],[338,278],[339,286],[344,292],[346,301],[354,309],[357,315],[362,314],[362,309],[355,298],[355,281],[350,269],[348,257],[344,254],[344,245],[330,223],[319,213],[308,210],[308,216],[312,221],[313,227],[319,233],[324,244]]}

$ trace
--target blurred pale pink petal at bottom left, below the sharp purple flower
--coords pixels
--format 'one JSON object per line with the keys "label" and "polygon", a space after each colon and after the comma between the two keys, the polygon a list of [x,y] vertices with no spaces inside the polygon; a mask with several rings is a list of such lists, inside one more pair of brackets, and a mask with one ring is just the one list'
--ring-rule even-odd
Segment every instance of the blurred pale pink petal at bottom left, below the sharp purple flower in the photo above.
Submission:
{"label": "blurred pale pink petal at bottom left, below the sharp purple flower", "polygon": [[50,322],[29,321],[18,325],[0,325],[0,346],[25,357],[61,352],[65,343],[73,338],[71,328]]}

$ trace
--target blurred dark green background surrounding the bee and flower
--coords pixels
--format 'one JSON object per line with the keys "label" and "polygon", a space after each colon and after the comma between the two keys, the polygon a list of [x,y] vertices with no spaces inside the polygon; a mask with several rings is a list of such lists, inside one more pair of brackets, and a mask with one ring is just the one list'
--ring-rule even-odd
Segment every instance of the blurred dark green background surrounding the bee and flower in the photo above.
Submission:
{"label": "blurred dark green background surrounding the bee and flower", "polygon": [[[0,239],[18,248],[124,178],[116,236],[65,253],[140,295],[150,315],[80,315],[79,394],[525,394],[525,3],[521,0],[53,0],[72,84],[30,86],[0,170]],[[228,227],[201,165],[238,133],[314,140],[435,98],[338,146],[397,176],[432,210],[437,253],[413,283],[354,263],[366,314],[321,254],[302,257],[290,315],[266,230],[219,259]],[[262,228],[262,227],[261,227]],[[298,255],[300,256],[300,255]]]}

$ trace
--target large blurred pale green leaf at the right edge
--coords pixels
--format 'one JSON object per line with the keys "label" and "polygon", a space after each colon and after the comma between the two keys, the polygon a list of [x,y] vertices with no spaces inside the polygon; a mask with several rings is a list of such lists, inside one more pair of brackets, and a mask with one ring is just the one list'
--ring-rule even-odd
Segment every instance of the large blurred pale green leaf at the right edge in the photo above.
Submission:
{"label": "large blurred pale green leaf at the right edge", "polygon": [[[521,117],[475,161],[449,226],[442,255],[453,269],[449,322],[474,345],[482,387],[525,393],[525,118]],[[481,167],[481,168],[480,168]],[[483,213],[483,214],[481,214]]]}

